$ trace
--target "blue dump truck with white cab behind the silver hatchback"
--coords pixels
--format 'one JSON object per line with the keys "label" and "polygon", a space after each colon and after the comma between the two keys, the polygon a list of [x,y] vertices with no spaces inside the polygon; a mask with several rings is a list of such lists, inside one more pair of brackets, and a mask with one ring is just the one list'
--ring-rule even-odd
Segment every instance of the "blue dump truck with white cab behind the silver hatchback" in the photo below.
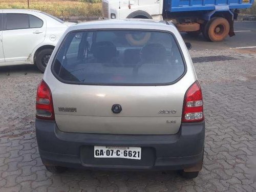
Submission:
{"label": "blue dump truck with white cab behind the silver hatchback", "polygon": [[103,18],[148,18],[172,20],[181,32],[202,33],[209,41],[233,36],[239,9],[254,0],[103,0]]}

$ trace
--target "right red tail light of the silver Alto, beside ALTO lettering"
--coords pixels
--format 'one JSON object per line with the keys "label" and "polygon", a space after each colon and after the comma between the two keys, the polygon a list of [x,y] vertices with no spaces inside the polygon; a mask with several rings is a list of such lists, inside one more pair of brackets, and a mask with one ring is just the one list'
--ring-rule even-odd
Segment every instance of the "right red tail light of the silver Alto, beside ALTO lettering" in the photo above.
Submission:
{"label": "right red tail light of the silver Alto, beside ALTO lettering", "polygon": [[185,94],[182,122],[199,122],[204,120],[203,95],[198,81],[190,86]]}

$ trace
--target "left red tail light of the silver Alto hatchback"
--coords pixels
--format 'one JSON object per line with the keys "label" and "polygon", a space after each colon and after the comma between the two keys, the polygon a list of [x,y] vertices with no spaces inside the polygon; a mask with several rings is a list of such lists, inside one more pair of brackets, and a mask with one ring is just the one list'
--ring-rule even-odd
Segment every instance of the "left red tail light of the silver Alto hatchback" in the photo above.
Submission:
{"label": "left red tail light of the silver Alto hatchback", "polygon": [[36,93],[36,117],[38,119],[54,120],[52,93],[44,80],[38,85]]}

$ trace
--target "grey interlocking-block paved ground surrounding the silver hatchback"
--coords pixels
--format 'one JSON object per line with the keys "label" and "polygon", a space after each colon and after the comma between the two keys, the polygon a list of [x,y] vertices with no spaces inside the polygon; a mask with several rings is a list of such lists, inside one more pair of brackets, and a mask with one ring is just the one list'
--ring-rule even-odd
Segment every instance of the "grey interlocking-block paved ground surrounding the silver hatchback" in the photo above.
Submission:
{"label": "grey interlocking-block paved ground surrounding the silver hatchback", "polygon": [[196,63],[204,93],[204,167],[198,178],[173,172],[47,172],[35,139],[35,94],[42,74],[33,66],[0,68],[0,191],[256,191],[256,60],[234,50],[190,52],[237,60]]}

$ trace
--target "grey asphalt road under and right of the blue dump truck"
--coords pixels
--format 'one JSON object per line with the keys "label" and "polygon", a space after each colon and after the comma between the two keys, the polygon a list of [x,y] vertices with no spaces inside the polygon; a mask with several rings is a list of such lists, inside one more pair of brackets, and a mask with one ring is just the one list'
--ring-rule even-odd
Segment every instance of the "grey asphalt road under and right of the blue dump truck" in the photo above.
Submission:
{"label": "grey asphalt road under and right of the blue dump truck", "polygon": [[255,22],[235,22],[234,30],[236,36],[227,37],[222,42],[205,41],[203,35],[190,37],[182,33],[185,42],[191,42],[193,50],[205,49],[229,49],[236,47],[256,46],[256,21]]}

